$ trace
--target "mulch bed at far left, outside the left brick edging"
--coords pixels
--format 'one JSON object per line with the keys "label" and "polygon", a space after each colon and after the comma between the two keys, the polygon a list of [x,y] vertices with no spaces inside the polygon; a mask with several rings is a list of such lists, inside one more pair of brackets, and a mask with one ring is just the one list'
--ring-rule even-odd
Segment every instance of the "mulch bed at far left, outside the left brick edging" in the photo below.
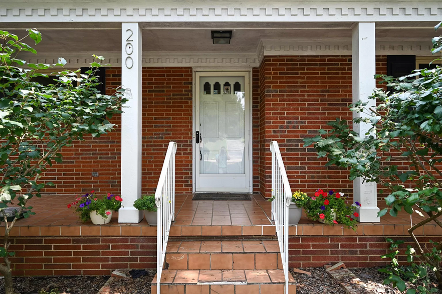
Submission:
{"label": "mulch bed at far left, outside the left brick edging", "polygon": [[[35,294],[57,289],[60,293],[96,294],[109,276],[27,276],[15,277],[14,289],[21,294]],[[149,291],[150,292],[150,291]],[[0,278],[0,294],[5,293],[4,279]]]}

